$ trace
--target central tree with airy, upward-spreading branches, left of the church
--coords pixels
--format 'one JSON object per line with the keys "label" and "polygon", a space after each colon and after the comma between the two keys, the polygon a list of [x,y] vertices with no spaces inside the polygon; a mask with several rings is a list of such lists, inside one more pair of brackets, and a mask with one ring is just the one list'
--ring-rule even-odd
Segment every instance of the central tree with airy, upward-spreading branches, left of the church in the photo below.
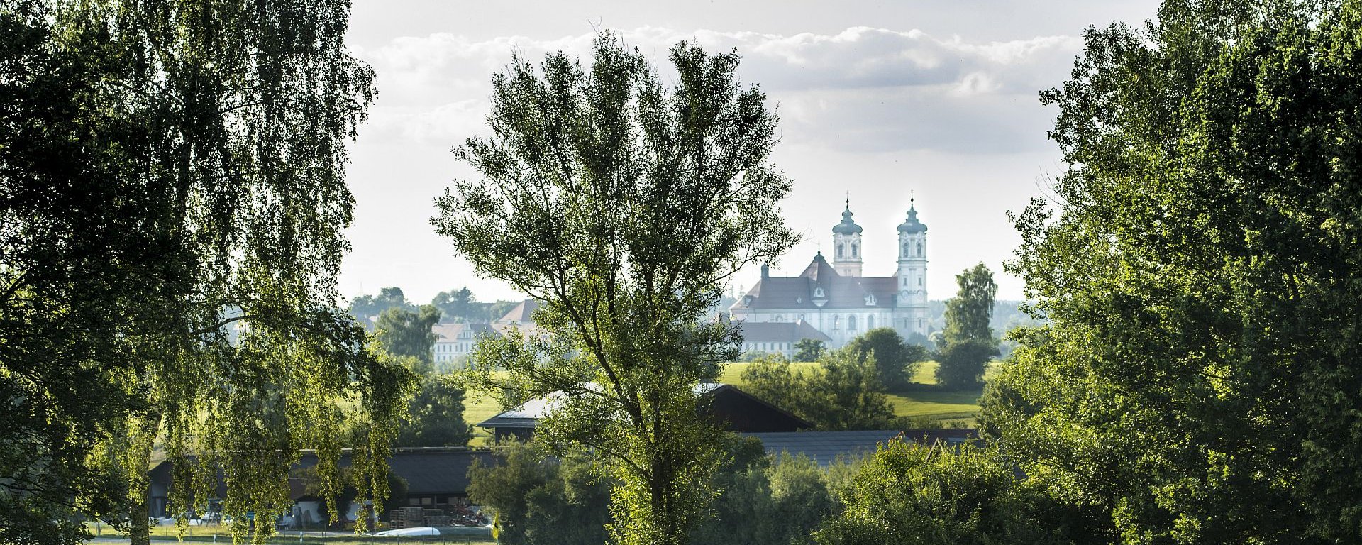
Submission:
{"label": "central tree with airy, upward-spreading branches, left of the church", "polygon": [[592,54],[493,76],[493,135],[456,153],[482,178],[432,222],[478,274],[542,301],[546,338],[484,341],[474,382],[503,403],[563,392],[537,433],[612,461],[613,538],[681,544],[718,458],[695,386],[737,356],[733,330],[697,319],[795,241],[775,206],[790,180],[767,164],[776,117],[735,53],[674,46],[670,89],[612,34]]}

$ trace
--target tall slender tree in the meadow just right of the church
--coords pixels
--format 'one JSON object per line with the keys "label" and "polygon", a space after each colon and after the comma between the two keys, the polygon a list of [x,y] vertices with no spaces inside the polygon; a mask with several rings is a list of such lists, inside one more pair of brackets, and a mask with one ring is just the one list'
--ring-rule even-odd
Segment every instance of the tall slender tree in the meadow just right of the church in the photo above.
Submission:
{"label": "tall slender tree in the meadow just right of the church", "polygon": [[955,277],[960,292],[945,302],[945,331],[937,346],[937,384],[947,388],[977,388],[983,382],[989,360],[998,354],[998,341],[989,320],[998,285],[983,263]]}

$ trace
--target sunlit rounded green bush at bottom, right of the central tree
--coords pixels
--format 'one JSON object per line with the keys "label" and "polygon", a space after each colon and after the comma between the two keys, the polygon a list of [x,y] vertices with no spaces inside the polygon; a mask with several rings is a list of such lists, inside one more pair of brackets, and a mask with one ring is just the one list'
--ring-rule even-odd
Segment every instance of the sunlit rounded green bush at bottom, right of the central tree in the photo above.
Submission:
{"label": "sunlit rounded green bush at bottom, right of the central tree", "polygon": [[1065,511],[1017,481],[996,448],[881,444],[840,489],[844,508],[813,534],[820,545],[1075,544]]}

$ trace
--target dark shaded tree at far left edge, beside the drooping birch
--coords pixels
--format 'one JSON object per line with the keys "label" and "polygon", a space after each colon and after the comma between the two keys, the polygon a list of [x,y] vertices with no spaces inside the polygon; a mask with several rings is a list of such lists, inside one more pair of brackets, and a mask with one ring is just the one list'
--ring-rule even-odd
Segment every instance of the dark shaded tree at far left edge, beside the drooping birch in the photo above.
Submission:
{"label": "dark shaded tree at far left edge, beside the drooping birch", "polygon": [[79,14],[0,1],[0,542],[74,544],[118,474],[91,467],[109,422],[146,398],[116,382],[158,319],[163,202],[136,172],[146,127],[106,82],[117,41]]}

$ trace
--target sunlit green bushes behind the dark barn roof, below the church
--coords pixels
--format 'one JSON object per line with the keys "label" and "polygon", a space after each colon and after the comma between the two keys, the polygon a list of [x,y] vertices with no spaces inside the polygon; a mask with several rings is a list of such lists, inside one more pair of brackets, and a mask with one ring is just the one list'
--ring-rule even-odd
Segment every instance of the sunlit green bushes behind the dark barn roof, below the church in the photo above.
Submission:
{"label": "sunlit green bushes behind the dark barn roof, below the church", "polygon": [[836,350],[824,356],[819,371],[791,369],[782,357],[759,358],[742,369],[742,382],[749,394],[817,429],[892,429],[900,422],[876,375],[873,356]]}

